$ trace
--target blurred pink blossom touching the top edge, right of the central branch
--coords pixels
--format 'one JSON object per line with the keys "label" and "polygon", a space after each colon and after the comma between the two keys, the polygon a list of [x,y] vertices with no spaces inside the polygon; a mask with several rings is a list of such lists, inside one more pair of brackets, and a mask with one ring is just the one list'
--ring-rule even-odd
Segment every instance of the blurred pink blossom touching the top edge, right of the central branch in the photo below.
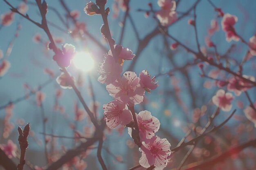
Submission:
{"label": "blurred pink blossom touching the top edge, right of the central branch", "polygon": [[157,4],[162,9],[155,14],[162,26],[168,26],[177,20],[176,2],[174,0],[158,0]]}

